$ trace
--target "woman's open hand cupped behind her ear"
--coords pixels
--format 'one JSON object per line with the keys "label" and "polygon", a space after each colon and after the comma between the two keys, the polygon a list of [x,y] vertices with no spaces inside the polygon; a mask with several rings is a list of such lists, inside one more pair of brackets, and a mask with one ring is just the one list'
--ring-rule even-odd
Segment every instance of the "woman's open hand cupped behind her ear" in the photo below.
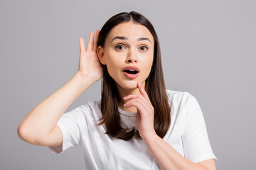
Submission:
{"label": "woman's open hand cupped behind her ear", "polygon": [[92,82],[101,79],[103,76],[103,69],[97,57],[97,40],[99,38],[99,33],[100,30],[96,30],[96,36],[94,32],[90,33],[86,51],[84,39],[80,38],[78,75],[82,78],[90,79]]}

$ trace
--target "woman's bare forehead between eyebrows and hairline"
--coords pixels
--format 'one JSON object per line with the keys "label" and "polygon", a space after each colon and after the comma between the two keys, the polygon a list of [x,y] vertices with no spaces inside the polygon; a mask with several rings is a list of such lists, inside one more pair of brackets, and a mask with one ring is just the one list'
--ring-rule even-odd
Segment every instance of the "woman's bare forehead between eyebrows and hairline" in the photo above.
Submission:
{"label": "woman's bare forehead between eyebrows and hairline", "polygon": [[154,42],[153,35],[151,35],[148,28],[139,23],[133,23],[132,21],[119,23],[117,26],[112,28],[107,39],[112,40],[115,36],[125,36],[129,39],[136,40],[137,38],[149,38],[151,42]]}

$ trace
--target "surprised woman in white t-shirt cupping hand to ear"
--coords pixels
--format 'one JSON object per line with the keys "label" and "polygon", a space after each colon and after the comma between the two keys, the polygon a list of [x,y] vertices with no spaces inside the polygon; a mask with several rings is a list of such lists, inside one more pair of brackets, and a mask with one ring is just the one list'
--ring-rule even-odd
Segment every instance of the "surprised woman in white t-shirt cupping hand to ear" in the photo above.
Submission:
{"label": "surprised woman in white t-shirt cupping hand to ear", "polygon": [[[99,101],[63,114],[101,78]],[[217,159],[196,98],[166,90],[159,40],[137,12],[112,16],[86,51],[80,38],[78,72],[26,115],[18,136],[55,154],[81,145],[87,169],[215,169]]]}

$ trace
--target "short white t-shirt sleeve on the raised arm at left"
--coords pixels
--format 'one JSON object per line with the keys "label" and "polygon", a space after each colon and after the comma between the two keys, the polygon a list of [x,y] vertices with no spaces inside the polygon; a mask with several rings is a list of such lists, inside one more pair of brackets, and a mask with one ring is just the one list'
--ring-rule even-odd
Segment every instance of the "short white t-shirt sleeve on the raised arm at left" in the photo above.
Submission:
{"label": "short white t-shirt sleeve on the raised arm at left", "polygon": [[86,111],[87,106],[81,105],[78,108],[73,109],[67,113],[63,113],[58,120],[57,125],[63,132],[63,146],[51,147],[50,151],[54,154],[60,154],[68,149],[81,144],[82,131],[87,130],[86,119],[83,112]]}

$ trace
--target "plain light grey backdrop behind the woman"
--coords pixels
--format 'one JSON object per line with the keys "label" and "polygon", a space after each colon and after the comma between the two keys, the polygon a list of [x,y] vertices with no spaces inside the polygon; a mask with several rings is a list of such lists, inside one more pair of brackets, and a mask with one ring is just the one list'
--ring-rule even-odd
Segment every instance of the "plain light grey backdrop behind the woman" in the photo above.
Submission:
{"label": "plain light grey backdrop behind the woman", "polygon": [[[79,38],[122,11],[159,35],[167,89],[201,105],[218,169],[256,169],[255,1],[0,1],[0,169],[84,169],[81,147],[55,155],[16,134],[27,113],[78,70]],[[67,111],[100,98],[92,84]]]}

